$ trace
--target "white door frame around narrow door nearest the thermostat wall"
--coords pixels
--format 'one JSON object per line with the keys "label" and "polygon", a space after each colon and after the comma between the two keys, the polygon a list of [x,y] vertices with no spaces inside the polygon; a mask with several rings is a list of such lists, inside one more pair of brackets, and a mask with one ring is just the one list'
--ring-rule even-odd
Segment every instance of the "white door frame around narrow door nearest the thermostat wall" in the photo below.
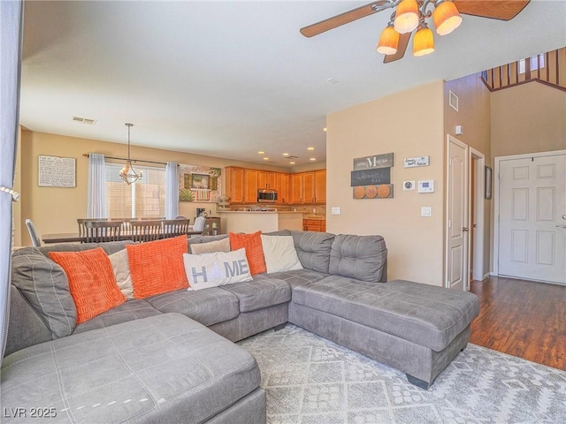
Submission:
{"label": "white door frame around narrow door nearest the thermostat wall", "polygon": [[[465,172],[464,172],[464,186],[468,192],[468,195],[464,197],[464,207],[463,207],[463,226],[469,225],[470,220],[470,147],[461,140],[456,139],[453,135],[447,134],[446,139],[446,205],[445,205],[445,223],[444,223],[444,231],[445,231],[445,240],[444,240],[444,287],[450,288],[450,283],[448,282],[449,278],[449,263],[450,263],[450,228],[448,227],[448,214],[449,214],[449,207],[450,207],[450,193],[448,187],[450,186],[450,157],[448,155],[450,151],[450,143],[453,142],[455,145],[463,148],[464,152],[464,165],[465,165]],[[465,276],[465,280],[463,283],[463,287],[466,291],[469,291],[470,285],[470,231],[467,233],[464,232],[464,240],[463,240],[463,248],[466,249],[466,252],[463,254],[463,276]]]}

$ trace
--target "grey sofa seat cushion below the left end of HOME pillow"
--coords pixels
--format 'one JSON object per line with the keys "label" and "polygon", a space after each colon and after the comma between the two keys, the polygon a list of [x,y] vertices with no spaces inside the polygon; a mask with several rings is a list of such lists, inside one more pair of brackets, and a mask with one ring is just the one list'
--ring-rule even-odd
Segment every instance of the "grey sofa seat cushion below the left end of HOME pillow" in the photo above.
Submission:
{"label": "grey sofa seat cushion below the left end of HOME pillow", "polygon": [[240,314],[238,298],[218,287],[190,292],[178,290],[147,300],[152,307],[163,313],[183,314],[207,327],[231,320]]}

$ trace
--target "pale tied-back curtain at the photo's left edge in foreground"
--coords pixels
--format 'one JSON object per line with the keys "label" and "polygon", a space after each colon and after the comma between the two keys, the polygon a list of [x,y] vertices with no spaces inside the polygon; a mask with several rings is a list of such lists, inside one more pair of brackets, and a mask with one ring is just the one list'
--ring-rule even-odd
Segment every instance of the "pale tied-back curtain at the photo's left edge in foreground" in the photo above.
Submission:
{"label": "pale tied-back curtain at the photo's left edge in foreground", "polygon": [[22,2],[0,1],[0,360],[10,316],[11,201],[18,143]]}

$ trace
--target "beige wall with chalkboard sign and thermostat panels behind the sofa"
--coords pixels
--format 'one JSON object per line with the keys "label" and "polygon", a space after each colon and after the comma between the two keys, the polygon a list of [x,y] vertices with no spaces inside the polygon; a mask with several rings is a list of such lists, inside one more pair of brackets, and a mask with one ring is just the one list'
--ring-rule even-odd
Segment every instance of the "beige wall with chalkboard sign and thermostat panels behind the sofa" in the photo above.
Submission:
{"label": "beige wall with chalkboard sign and thermostat panels behind the sofa", "polygon": [[[389,95],[327,117],[326,229],[380,234],[388,248],[388,278],[443,285],[444,84]],[[394,153],[394,198],[354,200],[350,171],[355,157]],[[406,157],[430,155],[430,166],[403,168]],[[433,179],[435,193],[403,192],[402,181]],[[432,207],[421,217],[422,206]],[[331,215],[340,207],[341,215]]]}

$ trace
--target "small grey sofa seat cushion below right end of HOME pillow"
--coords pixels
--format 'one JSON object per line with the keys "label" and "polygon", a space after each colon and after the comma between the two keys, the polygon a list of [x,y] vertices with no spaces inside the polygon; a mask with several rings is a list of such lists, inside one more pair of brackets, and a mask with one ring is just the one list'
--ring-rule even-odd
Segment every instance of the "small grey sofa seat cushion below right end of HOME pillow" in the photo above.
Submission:
{"label": "small grey sofa seat cushion below right end of HOME pillow", "polygon": [[252,281],[223,285],[221,289],[240,300],[240,312],[256,311],[291,300],[289,284],[265,274],[257,274]]}

